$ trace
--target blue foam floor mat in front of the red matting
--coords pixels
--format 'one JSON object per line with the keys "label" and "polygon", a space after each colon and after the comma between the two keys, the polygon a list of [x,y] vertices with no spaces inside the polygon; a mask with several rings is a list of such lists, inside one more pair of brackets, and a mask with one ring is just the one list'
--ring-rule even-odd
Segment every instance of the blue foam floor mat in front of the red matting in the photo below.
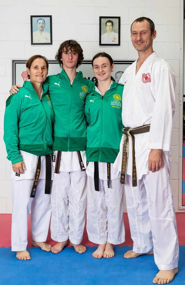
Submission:
{"label": "blue foam floor mat in front of the red matting", "polygon": [[[115,247],[114,258],[95,259],[96,247],[87,247],[85,254],[65,248],[61,253],[28,248],[31,260],[18,260],[11,248],[0,248],[1,285],[136,285],[153,284],[158,272],[153,255],[125,259],[132,247]],[[179,273],[173,285],[185,284],[185,246],[180,246]]]}

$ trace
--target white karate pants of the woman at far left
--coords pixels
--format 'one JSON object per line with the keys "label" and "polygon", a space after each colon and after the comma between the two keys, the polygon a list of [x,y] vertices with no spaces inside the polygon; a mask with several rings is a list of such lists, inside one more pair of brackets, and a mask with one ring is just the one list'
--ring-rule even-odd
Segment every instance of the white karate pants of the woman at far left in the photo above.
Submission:
{"label": "white karate pants of the woman at far left", "polygon": [[44,194],[45,179],[39,179],[35,198],[30,198],[33,179],[12,180],[12,251],[27,247],[28,217],[31,209],[32,239],[46,241],[51,217],[51,197]]}

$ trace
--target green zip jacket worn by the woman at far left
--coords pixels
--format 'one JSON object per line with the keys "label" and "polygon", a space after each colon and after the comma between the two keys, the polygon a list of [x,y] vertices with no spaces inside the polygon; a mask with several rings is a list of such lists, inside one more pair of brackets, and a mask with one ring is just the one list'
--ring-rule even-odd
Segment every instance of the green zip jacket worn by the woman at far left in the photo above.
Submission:
{"label": "green zip jacket worn by the woman at far left", "polygon": [[42,156],[52,153],[54,111],[43,85],[41,100],[31,82],[25,81],[17,94],[6,101],[4,141],[12,164],[22,161],[18,150]]}

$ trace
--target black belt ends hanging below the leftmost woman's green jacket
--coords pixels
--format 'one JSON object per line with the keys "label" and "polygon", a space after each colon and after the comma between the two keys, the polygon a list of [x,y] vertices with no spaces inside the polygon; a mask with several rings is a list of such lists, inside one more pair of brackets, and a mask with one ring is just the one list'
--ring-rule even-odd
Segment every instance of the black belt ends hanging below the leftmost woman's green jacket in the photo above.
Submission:
{"label": "black belt ends hanging below the leftmost woman's green jacket", "polygon": [[[38,185],[38,179],[40,176],[40,169],[41,169],[41,159],[40,156],[38,156],[30,198],[35,197]],[[46,155],[46,183],[45,183],[45,192],[44,192],[45,194],[50,194],[51,192],[51,178],[52,178],[52,161],[51,161],[51,154],[48,154]]]}

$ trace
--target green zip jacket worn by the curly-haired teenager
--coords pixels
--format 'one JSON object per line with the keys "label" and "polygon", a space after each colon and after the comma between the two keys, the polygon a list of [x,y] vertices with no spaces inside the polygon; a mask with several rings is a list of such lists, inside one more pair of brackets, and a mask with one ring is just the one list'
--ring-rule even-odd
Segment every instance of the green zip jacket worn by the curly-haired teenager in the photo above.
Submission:
{"label": "green zip jacket worn by the curly-haired teenager", "polygon": [[53,149],[61,151],[86,150],[87,134],[84,115],[85,97],[94,83],[78,72],[72,85],[64,70],[46,78],[55,113]]}

